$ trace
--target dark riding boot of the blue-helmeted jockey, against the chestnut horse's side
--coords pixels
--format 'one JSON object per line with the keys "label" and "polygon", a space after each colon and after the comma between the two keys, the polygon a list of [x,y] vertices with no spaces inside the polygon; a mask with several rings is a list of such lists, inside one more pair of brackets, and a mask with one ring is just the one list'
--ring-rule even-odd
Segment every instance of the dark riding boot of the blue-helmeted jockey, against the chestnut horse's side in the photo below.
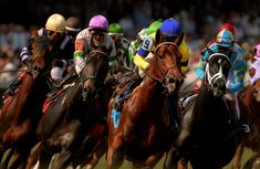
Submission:
{"label": "dark riding boot of the blue-helmeted jockey, against the chestnut horse's side", "polygon": [[128,98],[129,94],[133,92],[133,89],[138,86],[142,82],[142,78],[138,74],[134,74],[127,86],[124,88],[124,91],[115,98],[114,102],[114,108],[116,110],[119,110],[122,107],[122,103]]}

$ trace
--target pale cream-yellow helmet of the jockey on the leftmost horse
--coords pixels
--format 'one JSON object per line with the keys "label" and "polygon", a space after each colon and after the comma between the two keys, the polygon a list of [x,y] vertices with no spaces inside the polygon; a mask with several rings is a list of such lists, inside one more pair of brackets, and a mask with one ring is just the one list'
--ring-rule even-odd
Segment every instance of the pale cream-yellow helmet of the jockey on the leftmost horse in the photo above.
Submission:
{"label": "pale cream-yellow helmet of the jockey on the leftmost horse", "polygon": [[66,30],[66,21],[63,15],[55,13],[46,20],[45,29],[53,32],[63,33]]}

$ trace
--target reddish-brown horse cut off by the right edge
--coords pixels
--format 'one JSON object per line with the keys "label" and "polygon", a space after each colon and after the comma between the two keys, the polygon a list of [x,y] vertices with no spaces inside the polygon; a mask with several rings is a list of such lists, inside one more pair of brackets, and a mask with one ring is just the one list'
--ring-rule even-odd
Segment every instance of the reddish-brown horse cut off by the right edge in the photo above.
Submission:
{"label": "reddish-brown horse cut off by the right edge", "polygon": [[[249,74],[254,74],[253,68],[249,70]],[[239,145],[237,152],[233,157],[232,168],[241,168],[241,157],[243,149],[247,147],[252,150],[251,157],[245,162],[243,169],[259,168],[260,159],[260,78],[258,78],[253,85],[248,85],[239,93],[239,98],[249,108],[246,119],[250,126],[251,131],[242,137],[242,141]]]}

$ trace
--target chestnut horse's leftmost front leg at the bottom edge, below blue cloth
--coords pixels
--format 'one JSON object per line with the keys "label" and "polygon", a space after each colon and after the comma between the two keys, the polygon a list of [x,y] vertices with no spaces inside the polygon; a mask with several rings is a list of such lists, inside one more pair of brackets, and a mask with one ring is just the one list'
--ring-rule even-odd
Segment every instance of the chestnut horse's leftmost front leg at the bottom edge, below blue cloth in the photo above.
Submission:
{"label": "chestnut horse's leftmost front leg at the bottom edge, below blue cloth", "polygon": [[113,142],[108,144],[106,156],[106,168],[118,169],[124,161],[124,140],[122,135],[117,135]]}

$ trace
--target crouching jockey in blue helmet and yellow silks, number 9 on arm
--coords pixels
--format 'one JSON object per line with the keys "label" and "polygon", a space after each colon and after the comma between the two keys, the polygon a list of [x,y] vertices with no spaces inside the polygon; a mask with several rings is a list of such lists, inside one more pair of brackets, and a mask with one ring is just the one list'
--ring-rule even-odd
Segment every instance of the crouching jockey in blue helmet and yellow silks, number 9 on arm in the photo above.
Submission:
{"label": "crouching jockey in blue helmet and yellow silks, number 9 on arm", "polygon": [[[159,42],[156,42],[156,36],[159,35],[162,38],[162,43],[173,42],[175,39],[179,38],[183,34],[180,23],[174,19],[167,19],[164,22],[162,22],[162,20],[157,20],[153,22],[146,31],[147,35],[144,38],[142,46],[137,50],[134,56],[134,63],[137,67],[136,73],[132,77],[125,89],[121,93],[121,95],[115,98],[114,108],[117,110],[121,109],[123,101],[126,99],[131,95],[132,91],[143,81],[143,77],[145,76],[145,73],[149,67],[148,60],[153,57],[154,50],[159,44]],[[181,72],[185,73],[188,70],[189,49],[184,40],[178,46],[178,50],[183,54]],[[169,96],[169,128],[176,129],[178,126],[177,119],[179,115],[177,115],[177,113],[173,110],[173,107],[175,105],[173,105],[174,102],[171,101],[173,98],[170,98]],[[176,114],[174,115],[174,113]]]}

